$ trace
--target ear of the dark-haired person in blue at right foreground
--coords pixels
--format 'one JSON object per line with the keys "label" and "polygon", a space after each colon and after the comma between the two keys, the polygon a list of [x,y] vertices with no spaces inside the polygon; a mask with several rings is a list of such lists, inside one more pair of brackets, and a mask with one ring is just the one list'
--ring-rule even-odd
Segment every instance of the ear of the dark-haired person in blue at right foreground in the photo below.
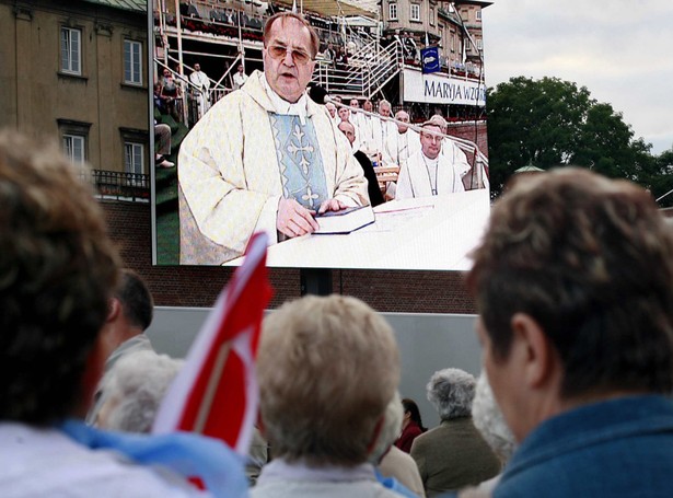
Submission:
{"label": "ear of the dark-haired person in blue at right foreground", "polygon": [[557,373],[558,358],[544,329],[526,313],[515,313],[511,327],[523,359],[524,382],[532,389],[547,384]]}

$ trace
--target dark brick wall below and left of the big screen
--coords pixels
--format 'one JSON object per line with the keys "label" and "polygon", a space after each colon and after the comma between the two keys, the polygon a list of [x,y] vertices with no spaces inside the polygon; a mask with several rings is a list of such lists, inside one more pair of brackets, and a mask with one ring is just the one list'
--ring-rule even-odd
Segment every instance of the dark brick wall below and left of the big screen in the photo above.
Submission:
{"label": "dark brick wall below and left of the big screen", "polygon": [[[210,306],[233,269],[152,266],[149,205],[103,202],[113,239],[125,265],[148,281],[156,305]],[[475,313],[464,275],[457,271],[332,270],[334,292],[355,296],[382,312]],[[300,270],[271,268],[270,308],[301,294]]]}

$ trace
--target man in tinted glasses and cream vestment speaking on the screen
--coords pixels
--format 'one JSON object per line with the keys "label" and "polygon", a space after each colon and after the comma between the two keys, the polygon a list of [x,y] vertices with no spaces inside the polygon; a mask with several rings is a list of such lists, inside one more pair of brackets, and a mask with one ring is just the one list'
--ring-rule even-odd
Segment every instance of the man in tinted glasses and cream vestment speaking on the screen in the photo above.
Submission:
{"label": "man in tinted glasses and cream vestment speaking on the screen", "polygon": [[251,235],[314,232],[325,211],[369,205],[367,179],[323,105],[305,94],[317,34],[282,12],[264,28],[264,72],[219,101],[187,135],[178,163],[181,263],[218,265]]}

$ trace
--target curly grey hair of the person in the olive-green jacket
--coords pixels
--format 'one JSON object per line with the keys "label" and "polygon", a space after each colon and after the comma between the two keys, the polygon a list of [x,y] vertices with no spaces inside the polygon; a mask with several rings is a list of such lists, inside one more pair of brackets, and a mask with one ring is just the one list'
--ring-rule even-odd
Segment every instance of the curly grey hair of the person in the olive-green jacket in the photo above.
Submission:
{"label": "curly grey hair of the person in the olive-green jacket", "polygon": [[461,369],[444,369],[432,374],[426,391],[440,418],[451,420],[471,416],[475,385],[471,373]]}

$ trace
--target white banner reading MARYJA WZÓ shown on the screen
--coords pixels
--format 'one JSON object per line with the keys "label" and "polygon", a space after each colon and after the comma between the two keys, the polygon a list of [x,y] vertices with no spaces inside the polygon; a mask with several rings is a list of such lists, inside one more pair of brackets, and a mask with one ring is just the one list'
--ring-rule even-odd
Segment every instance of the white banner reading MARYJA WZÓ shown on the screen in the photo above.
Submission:
{"label": "white banner reading MARYJA WZ\u00d3 shown on the screen", "polygon": [[464,78],[404,70],[404,101],[429,104],[486,105],[486,85]]}

